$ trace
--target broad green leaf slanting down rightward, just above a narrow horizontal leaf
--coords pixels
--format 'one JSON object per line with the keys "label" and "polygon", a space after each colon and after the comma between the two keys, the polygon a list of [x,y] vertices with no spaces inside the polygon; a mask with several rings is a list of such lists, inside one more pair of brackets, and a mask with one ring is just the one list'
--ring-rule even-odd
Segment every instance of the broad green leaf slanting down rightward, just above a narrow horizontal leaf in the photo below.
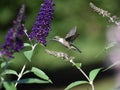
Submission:
{"label": "broad green leaf slanting down rightward, just above a narrow horizontal leaf", "polygon": [[44,79],[44,80],[47,80],[49,82],[52,83],[52,81],[49,79],[49,77],[42,71],[40,70],[39,68],[36,68],[36,67],[32,67],[31,71],[38,77]]}

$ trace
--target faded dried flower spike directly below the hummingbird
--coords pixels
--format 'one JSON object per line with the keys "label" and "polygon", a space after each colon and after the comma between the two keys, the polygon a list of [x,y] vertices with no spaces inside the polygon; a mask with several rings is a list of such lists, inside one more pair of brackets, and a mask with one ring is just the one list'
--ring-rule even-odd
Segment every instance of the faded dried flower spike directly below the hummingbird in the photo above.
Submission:
{"label": "faded dried flower spike directly below the hummingbird", "polygon": [[46,53],[56,56],[56,57],[60,57],[62,59],[66,59],[68,61],[71,61],[73,59],[75,59],[75,57],[69,56],[68,54],[64,53],[64,52],[57,52],[57,51],[52,51],[52,50],[45,50]]}

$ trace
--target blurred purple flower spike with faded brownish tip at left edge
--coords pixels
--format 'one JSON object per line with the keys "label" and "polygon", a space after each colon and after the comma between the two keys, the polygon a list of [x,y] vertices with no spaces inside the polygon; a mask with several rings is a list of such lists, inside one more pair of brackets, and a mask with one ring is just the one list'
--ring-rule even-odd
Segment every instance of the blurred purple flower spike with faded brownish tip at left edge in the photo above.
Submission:
{"label": "blurred purple flower spike with faded brownish tip at left edge", "polygon": [[23,42],[21,37],[25,35],[24,33],[24,5],[21,7],[17,19],[13,22],[13,27],[8,31],[6,35],[6,40],[1,46],[2,50],[0,56],[6,56],[8,58],[13,58],[13,53],[19,52],[23,47]]}

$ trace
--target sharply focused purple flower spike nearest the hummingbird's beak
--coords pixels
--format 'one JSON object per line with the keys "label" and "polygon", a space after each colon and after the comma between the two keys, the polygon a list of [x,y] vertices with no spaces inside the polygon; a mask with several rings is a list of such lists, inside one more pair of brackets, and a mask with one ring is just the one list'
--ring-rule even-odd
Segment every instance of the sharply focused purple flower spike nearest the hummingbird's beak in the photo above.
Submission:
{"label": "sharply focused purple flower spike nearest the hummingbird's beak", "polygon": [[52,0],[44,0],[40,12],[36,18],[36,22],[29,34],[29,38],[36,39],[38,42],[46,46],[46,37],[50,31],[50,23],[53,19],[54,3]]}

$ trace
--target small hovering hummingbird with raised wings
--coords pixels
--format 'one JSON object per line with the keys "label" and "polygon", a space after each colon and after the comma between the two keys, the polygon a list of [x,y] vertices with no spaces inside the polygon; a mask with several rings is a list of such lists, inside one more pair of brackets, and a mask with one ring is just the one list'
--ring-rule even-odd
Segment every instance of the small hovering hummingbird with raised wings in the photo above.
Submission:
{"label": "small hovering hummingbird with raised wings", "polygon": [[81,53],[81,50],[73,44],[73,41],[79,36],[79,34],[76,33],[76,30],[77,30],[77,27],[75,26],[67,33],[65,38],[62,38],[60,36],[54,36],[52,40],[61,43],[68,49],[77,50]]}

